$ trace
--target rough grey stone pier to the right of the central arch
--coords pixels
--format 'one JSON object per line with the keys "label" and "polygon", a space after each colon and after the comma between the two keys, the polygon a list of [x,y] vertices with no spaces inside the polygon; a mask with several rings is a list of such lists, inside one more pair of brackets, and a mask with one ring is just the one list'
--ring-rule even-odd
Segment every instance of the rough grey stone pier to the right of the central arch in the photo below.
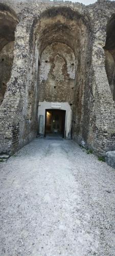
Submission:
{"label": "rough grey stone pier to the right of the central arch", "polygon": [[91,90],[94,98],[93,126],[95,131],[92,145],[97,154],[101,155],[105,155],[107,148],[113,150],[115,146],[114,102],[105,71],[105,52],[103,50],[106,42],[107,21],[114,12],[114,7],[114,3],[102,2],[98,6],[95,5],[94,9],[90,9],[94,30],[91,60],[94,75],[91,77]]}

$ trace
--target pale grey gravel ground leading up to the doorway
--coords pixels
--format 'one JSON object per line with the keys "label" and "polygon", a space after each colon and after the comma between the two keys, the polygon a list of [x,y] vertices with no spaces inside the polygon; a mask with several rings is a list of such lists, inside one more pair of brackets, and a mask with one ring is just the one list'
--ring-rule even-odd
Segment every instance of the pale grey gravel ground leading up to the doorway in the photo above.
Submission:
{"label": "pale grey gravel ground leading up to the doorway", "polygon": [[75,142],[35,139],[1,169],[0,255],[115,255],[115,170]]}

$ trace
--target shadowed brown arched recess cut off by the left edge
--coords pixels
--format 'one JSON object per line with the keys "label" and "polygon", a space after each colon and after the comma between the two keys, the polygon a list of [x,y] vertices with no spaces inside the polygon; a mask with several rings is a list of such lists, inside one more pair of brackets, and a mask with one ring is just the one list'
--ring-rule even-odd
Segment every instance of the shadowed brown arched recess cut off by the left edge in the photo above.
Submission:
{"label": "shadowed brown arched recess cut off by the left edge", "polygon": [[0,105],[11,77],[14,58],[15,28],[18,18],[7,5],[0,3]]}

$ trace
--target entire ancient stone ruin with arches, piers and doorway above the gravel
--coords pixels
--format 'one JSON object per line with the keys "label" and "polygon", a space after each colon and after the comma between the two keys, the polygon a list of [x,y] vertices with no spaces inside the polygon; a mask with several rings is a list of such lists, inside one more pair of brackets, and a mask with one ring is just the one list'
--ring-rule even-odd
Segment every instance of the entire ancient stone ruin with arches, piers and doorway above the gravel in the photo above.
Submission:
{"label": "entire ancient stone ruin with arches, piers and doorway above the gravel", "polygon": [[1,154],[47,130],[114,150],[115,2],[1,0],[0,51]]}

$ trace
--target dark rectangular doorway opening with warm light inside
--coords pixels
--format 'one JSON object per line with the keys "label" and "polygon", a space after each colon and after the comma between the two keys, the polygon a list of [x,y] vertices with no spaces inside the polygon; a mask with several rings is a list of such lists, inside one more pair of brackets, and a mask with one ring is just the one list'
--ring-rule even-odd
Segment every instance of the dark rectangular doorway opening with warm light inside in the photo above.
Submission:
{"label": "dark rectangular doorway opening with warm light inside", "polygon": [[65,113],[65,110],[45,110],[45,137],[61,136],[64,138]]}

